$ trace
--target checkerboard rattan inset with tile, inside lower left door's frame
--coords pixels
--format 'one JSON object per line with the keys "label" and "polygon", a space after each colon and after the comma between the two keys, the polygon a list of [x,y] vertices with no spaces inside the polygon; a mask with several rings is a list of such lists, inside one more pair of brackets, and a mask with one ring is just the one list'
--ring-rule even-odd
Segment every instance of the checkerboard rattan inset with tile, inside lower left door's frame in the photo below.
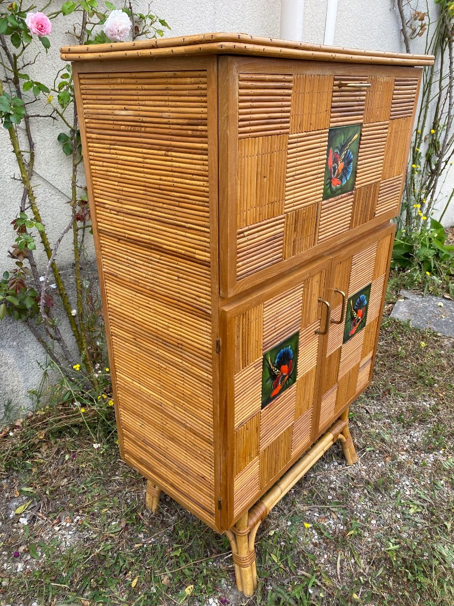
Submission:
{"label": "checkerboard rattan inset with tile, inside lower left door's frame", "polygon": [[234,515],[311,442],[324,280],[319,271],[234,318]]}

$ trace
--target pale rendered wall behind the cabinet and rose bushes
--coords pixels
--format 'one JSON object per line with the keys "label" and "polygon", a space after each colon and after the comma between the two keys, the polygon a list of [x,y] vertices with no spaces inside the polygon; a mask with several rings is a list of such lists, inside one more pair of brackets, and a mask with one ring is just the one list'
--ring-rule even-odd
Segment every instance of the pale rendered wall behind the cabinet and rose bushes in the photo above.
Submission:
{"label": "pale rendered wall behind the cabinet and rose bushes", "polygon": [[[425,2],[419,2],[425,10]],[[53,2],[48,12],[61,5]],[[139,0],[134,5],[146,11],[147,2]],[[417,2],[413,3],[416,8]],[[171,25],[166,36],[180,36],[200,32],[243,32],[257,36],[278,38],[280,0],[155,0],[153,10]],[[327,0],[306,0],[304,6],[304,41],[323,44]],[[34,67],[36,79],[51,84],[54,74],[61,67],[58,49],[74,41],[69,33],[71,17],[53,21],[49,36],[52,47],[45,55],[41,52]],[[400,33],[400,19],[395,0],[339,0],[334,44],[344,47],[370,48],[404,52]],[[414,52],[424,52],[424,39],[417,39]],[[41,50],[36,46],[36,51]],[[38,105],[38,104],[36,104]],[[38,110],[38,107],[37,107]],[[69,209],[65,202],[70,194],[70,161],[56,141],[62,128],[50,120],[40,121],[35,128],[36,164],[35,183],[39,184],[38,199],[44,221],[50,225],[51,241],[67,225]],[[13,267],[7,258],[8,247],[13,242],[10,221],[16,215],[21,187],[12,178],[18,170],[12,155],[7,132],[0,128],[0,268]],[[454,187],[454,170],[450,170],[444,185],[445,195]],[[454,205],[445,216],[446,224],[454,223]],[[65,246],[66,244],[66,246]],[[44,268],[44,258],[38,257]],[[71,271],[70,236],[59,249],[59,264]],[[36,361],[43,362],[44,355],[38,344],[17,323],[0,323],[0,418],[2,403],[10,399],[18,407],[27,406],[27,390],[36,387],[41,378]]]}

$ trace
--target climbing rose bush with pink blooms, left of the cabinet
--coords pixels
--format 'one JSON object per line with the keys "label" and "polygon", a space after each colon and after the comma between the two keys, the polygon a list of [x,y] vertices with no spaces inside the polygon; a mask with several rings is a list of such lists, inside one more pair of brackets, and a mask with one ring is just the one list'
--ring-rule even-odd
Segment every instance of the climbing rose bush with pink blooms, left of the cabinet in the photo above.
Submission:
{"label": "climbing rose bush with pink blooms, left of the cabinet", "polygon": [[[0,122],[8,131],[23,186],[22,195],[16,201],[16,216],[12,216],[15,240],[8,250],[15,265],[13,269],[0,271],[0,320],[8,316],[24,322],[44,347],[48,358],[69,381],[74,380],[77,368],[82,384],[97,388],[100,379],[96,369],[103,355],[104,325],[100,301],[93,295],[97,290],[90,282],[89,265],[82,262],[91,222],[87,191],[81,186],[84,182],[80,174],[83,170],[82,147],[73,75],[71,65],[62,64],[58,73],[48,73],[46,82],[36,79],[33,70],[37,55],[33,36],[37,36],[47,52],[51,47],[47,35],[52,31],[52,20],[68,15],[73,15],[71,32],[76,36],[76,44],[120,41],[130,34],[133,40],[156,38],[163,36],[163,28],[168,25],[151,13],[133,12],[130,0],[122,8],[109,0],[104,0],[103,5],[98,4],[98,0],[66,0],[58,10],[45,13],[48,6],[49,3],[44,9],[32,12],[22,7],[22,0],[0,0],[0,62],[3,67]],[[80,19],[74,19],[74,15]],[[39,107],[38,111],[36,107]],[[62,125],[57,139],[64,154],[71,158],[70,184],[66,187],[71,192],[67,200],[69,223],[54,244],[48,238],[47,225],[41,217],[33,172],[37,153],[34,133],[43,119]],[[12,171],[11,177],[17,178],[16,173]],[[76,293],[73,300],[58,265],[58,248],[67,233],[72,235],[74,252]],[[44,248],[47,257],[44,264],[35,259],[37,245]],[[55,296],[61,299],[73,342],[64,338],[60,330],[62,319],[54,313]]]}

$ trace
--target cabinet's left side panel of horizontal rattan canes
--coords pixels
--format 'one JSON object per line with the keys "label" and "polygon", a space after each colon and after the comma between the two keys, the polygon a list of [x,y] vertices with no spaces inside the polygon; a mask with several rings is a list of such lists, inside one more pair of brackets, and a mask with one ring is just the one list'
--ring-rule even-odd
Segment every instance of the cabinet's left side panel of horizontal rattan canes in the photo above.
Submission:
{"label": "cabinet's left side panel of horizontal rattan canes", "polygon": [[212,521],[206,72],[79,87],[125,459]]}

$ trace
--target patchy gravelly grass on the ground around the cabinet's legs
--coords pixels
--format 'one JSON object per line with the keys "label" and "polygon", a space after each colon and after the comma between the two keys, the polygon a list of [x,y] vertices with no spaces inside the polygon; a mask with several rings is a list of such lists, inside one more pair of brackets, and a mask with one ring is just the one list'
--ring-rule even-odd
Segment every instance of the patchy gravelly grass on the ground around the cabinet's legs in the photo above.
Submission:
{"label": "patchy gravelly grass on the ground around the cabinet's legs", "polygon": [[249,599],[225,537],[167,496],[144,509],[108,399],[13,424],[0,432],[0,604],[452,606],[453,368],[452,341],[384,319],[351,411],[359,464],[335,445],[272,511]]}

